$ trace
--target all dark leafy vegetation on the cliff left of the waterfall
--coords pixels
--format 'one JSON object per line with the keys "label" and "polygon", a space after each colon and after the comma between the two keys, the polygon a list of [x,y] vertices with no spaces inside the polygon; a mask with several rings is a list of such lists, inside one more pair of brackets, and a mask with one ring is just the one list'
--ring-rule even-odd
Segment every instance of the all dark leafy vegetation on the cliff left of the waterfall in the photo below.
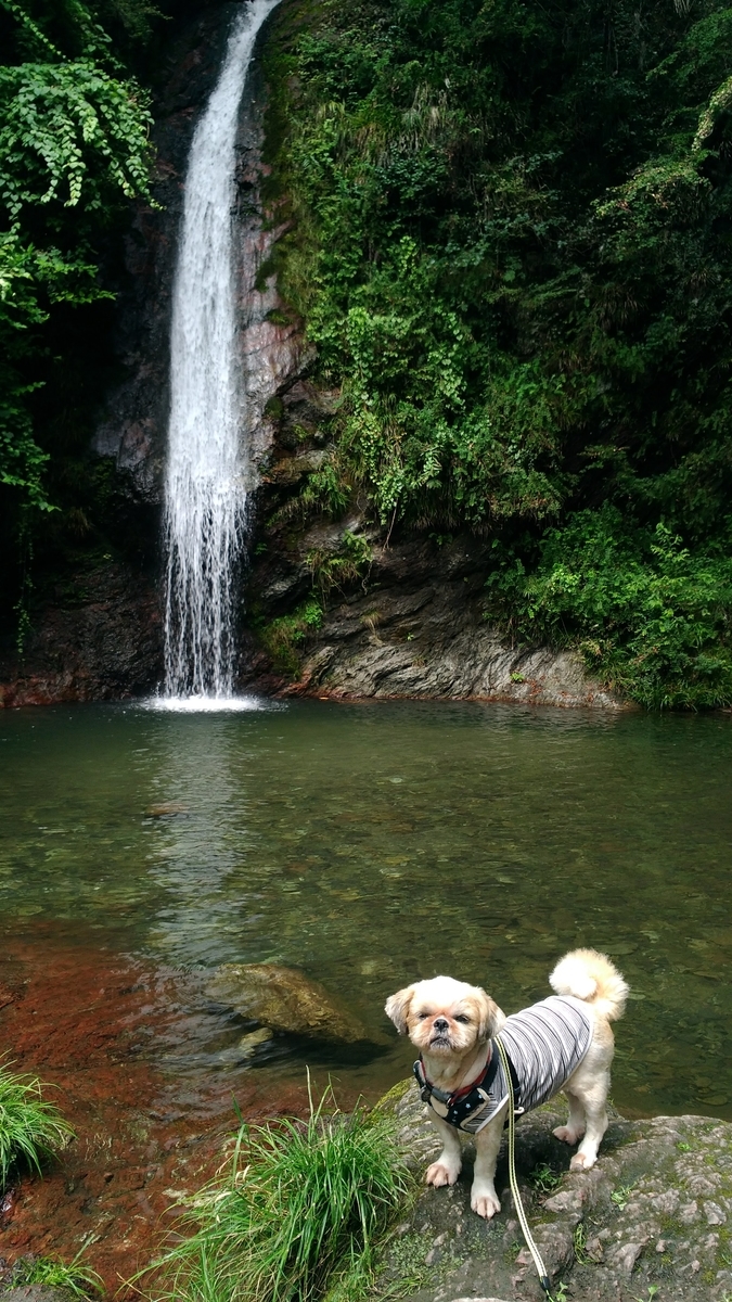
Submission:
{"label": "all dark leafy vegetation on the cliff left of the waterfall", "polygon": [[130,199],[152,201],[130,64],[155,17],[147,0],[0,0],[0,536],[21,643],[34,546],[56,564],[104,549],[116,490],[89,443],[113,366],[109,266]]}

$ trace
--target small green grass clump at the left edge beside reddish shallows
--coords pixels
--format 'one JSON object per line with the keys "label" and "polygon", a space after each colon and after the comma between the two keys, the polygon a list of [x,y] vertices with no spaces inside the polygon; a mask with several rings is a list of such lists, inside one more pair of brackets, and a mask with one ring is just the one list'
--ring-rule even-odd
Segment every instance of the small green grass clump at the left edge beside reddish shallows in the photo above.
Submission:
{"label": "small green grass clump at the left edge beside reddish shallows", "polygon": [[40,1173],[43,1159],[64,1147],[73,1133],[43,1098],[38,1077],[14,1075],[8,1062],[0,1062],[0,1190],[18,1163]]}

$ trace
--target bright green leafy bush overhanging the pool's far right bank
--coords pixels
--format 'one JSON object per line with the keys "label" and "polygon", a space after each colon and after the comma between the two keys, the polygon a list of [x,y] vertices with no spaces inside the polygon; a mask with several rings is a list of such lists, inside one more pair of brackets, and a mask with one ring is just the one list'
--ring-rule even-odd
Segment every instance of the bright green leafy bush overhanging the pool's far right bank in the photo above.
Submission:
{"label": "bright green leafy bush overhanging the pool's far right bank", "polygon": [[732,702],[732,559],[690,552],[666,525],[629,531],[617,508],[551,530],[535,569],[501,557],[490,612],[528,641],[580,646],[611,687],[651,708]]}

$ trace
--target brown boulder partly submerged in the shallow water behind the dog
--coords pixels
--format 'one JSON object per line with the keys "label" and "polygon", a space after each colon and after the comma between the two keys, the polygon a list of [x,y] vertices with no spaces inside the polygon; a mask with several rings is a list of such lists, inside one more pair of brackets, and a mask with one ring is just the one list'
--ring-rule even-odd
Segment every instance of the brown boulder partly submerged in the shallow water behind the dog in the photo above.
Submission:
{"label": "brown boulder partly submerged in the shallow water behind the dog", "polygon": [[211,999],[236,1009],[249,1021],[309,1035],[319,1040],[356,1044],[369,1040],[366,1027],[319,982],[277,963],[224,963],[206,987]]}

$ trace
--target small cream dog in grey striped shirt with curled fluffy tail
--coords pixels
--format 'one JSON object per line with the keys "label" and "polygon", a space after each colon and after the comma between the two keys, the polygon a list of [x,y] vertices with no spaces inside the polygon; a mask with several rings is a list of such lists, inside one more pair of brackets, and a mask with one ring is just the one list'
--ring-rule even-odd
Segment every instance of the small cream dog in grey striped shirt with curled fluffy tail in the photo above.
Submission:
{"label": "small cream dog in grey striped shirt with curled fluffy tail", "polygon": [[500,1211],[495,1169],[508,1116],[508,1083],[494,1038],[500,1031],[513,1078],[516,1112],[529,1112],[564,1090],[565,1126],[554,1134],[580,1147],[572,1170],[594,1167],[607,1130],[610,1023],[623,1017],[628,986],[606,954],[573,949],[554,969],[556,992],[505,1017],[479,986],[435,976],[397,991],[386,1004],[400,1035],[419,1051],[414,1074],[443,1151],[426,1184],[455,1185],[462,1165],[460,1131],[475,1139],[470,1206],[491,1220]]}

